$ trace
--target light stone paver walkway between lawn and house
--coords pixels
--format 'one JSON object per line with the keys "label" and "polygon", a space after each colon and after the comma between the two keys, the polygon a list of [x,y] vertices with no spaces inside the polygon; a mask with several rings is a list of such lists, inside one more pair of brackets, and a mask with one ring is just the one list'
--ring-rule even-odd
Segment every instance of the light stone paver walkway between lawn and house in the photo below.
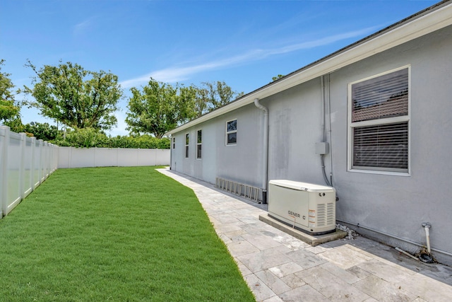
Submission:
{"label": "light stone paver walkway between lawn and house", "polygon": [[452,301],[452,267],[363,237],[311,247],[259,221],[266,205],[159,170],[194,190],[257,301]]}

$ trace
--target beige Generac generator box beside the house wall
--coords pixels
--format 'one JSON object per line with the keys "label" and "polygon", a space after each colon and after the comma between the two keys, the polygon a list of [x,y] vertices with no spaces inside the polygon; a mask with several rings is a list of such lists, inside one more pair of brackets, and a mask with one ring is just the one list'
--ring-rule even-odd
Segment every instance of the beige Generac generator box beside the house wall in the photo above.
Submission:
{"label": "beige Generac generator box beside the house wall", "polygon": [[333,187],[292,180],[270,180],[268,215],[310,235],[335,231]]}

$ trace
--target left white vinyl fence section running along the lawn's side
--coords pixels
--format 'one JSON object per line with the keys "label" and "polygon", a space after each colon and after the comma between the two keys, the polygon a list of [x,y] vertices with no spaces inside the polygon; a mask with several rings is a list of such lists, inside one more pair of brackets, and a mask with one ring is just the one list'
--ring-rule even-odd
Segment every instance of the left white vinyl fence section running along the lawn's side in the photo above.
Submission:
{"label": "left white vinyl fence section running along the lawn's side", "polygon": [[0,219],[57,170],[58,146],[0,126]]}

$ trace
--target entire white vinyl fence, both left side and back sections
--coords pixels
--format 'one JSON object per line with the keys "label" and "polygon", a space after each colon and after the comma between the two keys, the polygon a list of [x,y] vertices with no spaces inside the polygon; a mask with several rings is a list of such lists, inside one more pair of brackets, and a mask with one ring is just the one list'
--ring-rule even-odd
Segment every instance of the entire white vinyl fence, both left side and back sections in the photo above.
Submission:
{"label": "entire white vinyl fence, both left side and back sections", "polygon": [[169,149],[59,147],[0,126],[0,219],[57,168],[169,165]]}

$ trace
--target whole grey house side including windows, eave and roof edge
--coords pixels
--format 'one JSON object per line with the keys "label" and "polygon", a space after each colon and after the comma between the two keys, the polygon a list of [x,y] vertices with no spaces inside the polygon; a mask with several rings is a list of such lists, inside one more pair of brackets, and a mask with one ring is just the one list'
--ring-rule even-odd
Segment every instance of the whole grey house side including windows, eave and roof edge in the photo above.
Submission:
{"label": "whole grey house side including windows, eave and roof edge", "polygon": [[[452,265],[452,3],[443,1],[168,132],[171,169],[332,185],[336,219]],[[319,154],[324,153],[324,154]]]}

